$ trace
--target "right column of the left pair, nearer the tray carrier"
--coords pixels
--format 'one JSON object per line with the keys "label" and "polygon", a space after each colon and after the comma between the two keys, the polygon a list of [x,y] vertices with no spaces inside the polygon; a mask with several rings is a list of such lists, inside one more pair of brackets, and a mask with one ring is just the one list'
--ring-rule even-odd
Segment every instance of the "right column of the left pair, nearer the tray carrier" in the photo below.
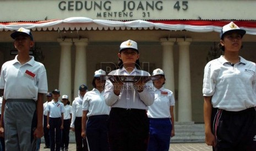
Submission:
{"label": "right column of the left pair, nearer the tray carrier", "polygon": [[77,97],[79,85],[88,85],[86,79],[86,46],[87,38],[73,39],[75,44],[75,79],[74,79],[74,98]]}

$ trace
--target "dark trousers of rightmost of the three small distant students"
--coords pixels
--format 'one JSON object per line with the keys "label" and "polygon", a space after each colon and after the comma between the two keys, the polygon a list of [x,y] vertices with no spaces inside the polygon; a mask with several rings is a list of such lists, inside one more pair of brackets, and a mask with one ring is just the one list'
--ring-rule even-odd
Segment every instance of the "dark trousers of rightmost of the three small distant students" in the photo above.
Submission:
{"label": "dark trousers of rightmost of the three small distant students", "polygon": [[69,145],[70,119],[63,120],[61,147],[68,149]]}

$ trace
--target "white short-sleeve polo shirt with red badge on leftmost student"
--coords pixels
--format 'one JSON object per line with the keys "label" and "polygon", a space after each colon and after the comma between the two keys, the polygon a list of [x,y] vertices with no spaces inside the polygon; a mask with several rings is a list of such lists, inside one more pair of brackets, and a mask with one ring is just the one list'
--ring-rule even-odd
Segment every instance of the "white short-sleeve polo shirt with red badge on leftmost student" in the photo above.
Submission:
{"label": "white short-sleeve polo shirt with red badge on leftmost student", "polygon": [[30,61],[21,65],[17,56],[14,60],[5,62],[1,69],[0,89],[4,89],[4,99],[24,98],[37,101],[37,93],[46,94],[48,90],[46,69],[33,56],[30,56]]}

